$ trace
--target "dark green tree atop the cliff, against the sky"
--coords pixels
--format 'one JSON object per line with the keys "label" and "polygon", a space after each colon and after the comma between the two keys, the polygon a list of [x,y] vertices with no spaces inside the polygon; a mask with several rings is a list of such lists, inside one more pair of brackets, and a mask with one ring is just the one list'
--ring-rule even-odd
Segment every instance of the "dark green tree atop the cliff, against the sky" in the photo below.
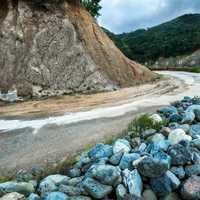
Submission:
{"label": "dark green tree atop the cliff, against the sky", "polygon": [[97,18],[100,16],[100,1],[101,0],[82,0],[82,5],[86,8],[87,11],[90,12],[93,17]]}

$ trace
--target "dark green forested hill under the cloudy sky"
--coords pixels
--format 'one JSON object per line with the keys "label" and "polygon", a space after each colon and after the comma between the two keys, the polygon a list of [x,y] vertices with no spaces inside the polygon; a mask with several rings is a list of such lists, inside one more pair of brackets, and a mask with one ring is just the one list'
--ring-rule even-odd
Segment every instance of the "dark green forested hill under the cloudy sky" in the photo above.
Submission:
{"label": "dark green forested hill under the cloudy sky", "polygon": [[200,48],[200,14],[183,15],[147,30],[108,36],[130,59],[155,62],[160,57],[175,57]]}

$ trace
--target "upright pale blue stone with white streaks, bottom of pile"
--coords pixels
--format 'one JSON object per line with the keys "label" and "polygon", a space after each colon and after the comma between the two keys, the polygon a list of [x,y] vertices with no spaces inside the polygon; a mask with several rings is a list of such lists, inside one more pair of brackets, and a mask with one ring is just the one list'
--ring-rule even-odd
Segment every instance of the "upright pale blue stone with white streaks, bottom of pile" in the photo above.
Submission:
{"label": "upright pale blue stone with white streaks, bottom of pile", "polygon": [[138,173],[137,169],[131,171],[126,180],[128,191],[133,197],[141,197],[143,183],[140,174]]}

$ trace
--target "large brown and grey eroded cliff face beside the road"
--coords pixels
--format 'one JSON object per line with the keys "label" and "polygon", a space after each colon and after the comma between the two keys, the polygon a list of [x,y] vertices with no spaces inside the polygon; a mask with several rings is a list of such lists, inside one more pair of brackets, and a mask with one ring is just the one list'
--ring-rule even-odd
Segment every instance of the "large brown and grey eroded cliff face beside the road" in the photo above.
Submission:
{"label": "large brown and grey eroded cliff face beside the road", "polygon": [[1,2],[0,91],[53,96],[112,90],[152,77],[128,60],[76,1]]}

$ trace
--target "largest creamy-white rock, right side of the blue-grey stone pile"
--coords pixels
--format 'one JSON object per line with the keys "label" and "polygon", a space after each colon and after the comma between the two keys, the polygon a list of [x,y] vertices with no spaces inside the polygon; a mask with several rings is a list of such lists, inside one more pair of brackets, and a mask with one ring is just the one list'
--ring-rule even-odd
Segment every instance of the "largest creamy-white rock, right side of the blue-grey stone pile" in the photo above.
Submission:
{"label": "largest creamy-white rock, right side of the blue-grey stone pile", "polygon": [[189,135],[186,135],[183,129],[175,129],[169,134],[168,140],[170,141],[172,145],[174,145],[174,144],[178,144],[181,140],[191,141],[192,137]]}

